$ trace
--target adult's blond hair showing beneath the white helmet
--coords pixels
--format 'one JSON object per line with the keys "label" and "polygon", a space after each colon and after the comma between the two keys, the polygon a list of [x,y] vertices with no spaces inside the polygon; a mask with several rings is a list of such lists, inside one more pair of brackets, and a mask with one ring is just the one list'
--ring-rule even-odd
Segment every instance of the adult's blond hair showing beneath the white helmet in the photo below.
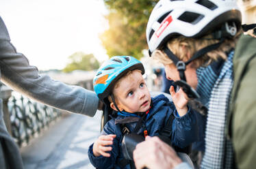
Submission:
{"label": "adult's blond hair showing beneath the white helmet", "polygon": [[[201,39],[180,36],[169,40],[167,46],[180,60],[188,61],[196,51],[218,42],[219,40],[214,40],[212,35],[207,35]],[[223,42],[216,50],[207,52],[203,57],[192,61],[191,66],[198,68],[201,66],[207,66],[218,58],[227,59],[225,52],[228,52],[231,48],[235,48],[235,42],[235,38],[232,40],[225,40],[225,42]],[[170,60],[166,53],[161,49],[155,50],[152,53],[152,57],[164,65],[172,64],[172,60]]]}

